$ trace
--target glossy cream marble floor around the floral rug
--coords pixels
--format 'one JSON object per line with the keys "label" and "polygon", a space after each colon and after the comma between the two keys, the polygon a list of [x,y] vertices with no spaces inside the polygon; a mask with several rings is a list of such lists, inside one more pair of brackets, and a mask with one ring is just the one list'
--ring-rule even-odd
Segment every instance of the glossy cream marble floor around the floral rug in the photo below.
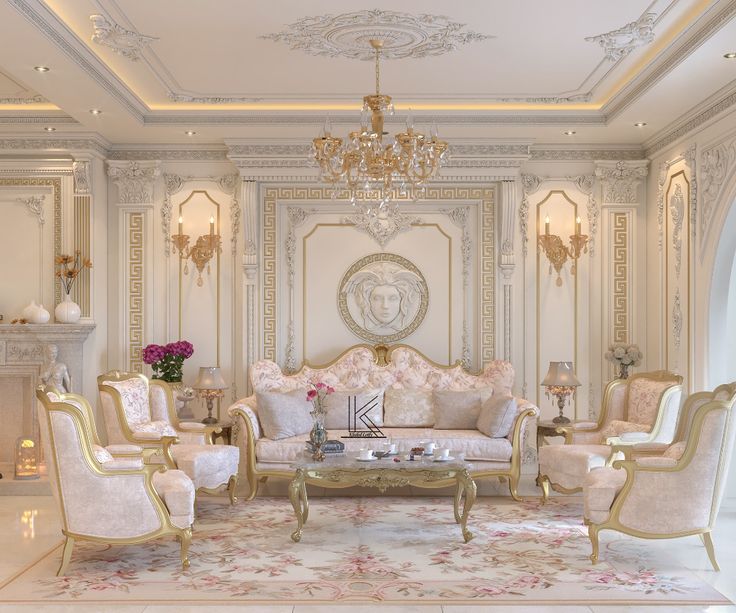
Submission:
{"label": "glossy cream marble floor around the floral rug", "polygon": [[[523,484],[522,495],[534,495],[535,489],[527,480]],[[280,491],[265,493],[281,493]],[[414,493],[414,492],[411,492]],[[491,493],[491,492],[488,492]],[[25,565],[29,564],[42,553],[60,541],[59,517],[53,498],[50,496],[0,496],[0,582],[4,581]],[[736,601],[736,499],[724,501],[714,532],[716,552],[721,566],[721,572],[716,573],[710,568],[704,548],[700,555],[693,555],[692,543],[688,537],[668,542],[669,551],[680,563],[693,570],[704,581],[717,588],[724,596]],[[698,551],[700,551],[700,549]],[[11,613],[67,613],[67,612],[118,612],[118,613],[214,613],[227,611],[236,613],[363,613],[380,610],[381,613],[476,613],[479,611],[512,613],[557,611],[558,613],[613,613],[635,611],[666,611],[678,613],[680,611],[712,611],[736,613],[736,605],[730,606],[685,606],[673,607],[663,605],[652,606],[458,606],[458,605],[421,605],[421,606],[381,606],[371,605],[283,605],[283,606],[181,606],[181,605],[9,605],[0,601],[0,612]]]}

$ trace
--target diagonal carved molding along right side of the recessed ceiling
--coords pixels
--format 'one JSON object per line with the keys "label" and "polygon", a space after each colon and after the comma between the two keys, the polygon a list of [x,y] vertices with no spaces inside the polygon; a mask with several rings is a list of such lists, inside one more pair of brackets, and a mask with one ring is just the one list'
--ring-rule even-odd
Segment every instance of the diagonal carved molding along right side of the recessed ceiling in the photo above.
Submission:
{"label": "diagonal carved molding along right side of the recessed ceiling", "polygon": [[[711,9],[712,11],[713,9]],[[710,11],[709,11],[710,12]],[[708,40],[713,34],[725,26],[736,15],[736,3],[728,2],[725,8],[718,11],[708,19],[687,40],[680,44],[677,49],[662,57],[651,68],[646,69],[620,91],[618,91],[603,107],[602,113],[607,121],[611,121],[636,100],[646,94],[656,83],[668,75],[680,62],[685,60],[695,49]],[[702,16],[688,30],[692,30],[707,18]],[[679,39],[684,39],[685,33],[681,33]]]}

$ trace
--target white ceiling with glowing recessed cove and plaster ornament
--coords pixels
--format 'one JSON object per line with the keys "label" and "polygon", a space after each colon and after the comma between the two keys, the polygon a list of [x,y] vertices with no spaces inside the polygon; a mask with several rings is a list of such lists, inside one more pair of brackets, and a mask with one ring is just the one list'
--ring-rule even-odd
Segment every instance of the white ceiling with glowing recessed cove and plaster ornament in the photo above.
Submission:
{"label": "white ceiling with glowing recessed cove and plaster ornament", "polygon": [[[736,59],[723,58],[736,50],[734,15],[733,0],[8,0],[0,132],[53,126],[120,144],[308,139],[328,112],[347,132],[374,68],[345,55],[377,37],[387,55],[409,56],[381,67],[393,123],[411,107],[448,138],[642,145],[736,89]],[[637,20],[643,40],[620,59],[585,40]],[[100,23],[108,29],[95,42]]]}

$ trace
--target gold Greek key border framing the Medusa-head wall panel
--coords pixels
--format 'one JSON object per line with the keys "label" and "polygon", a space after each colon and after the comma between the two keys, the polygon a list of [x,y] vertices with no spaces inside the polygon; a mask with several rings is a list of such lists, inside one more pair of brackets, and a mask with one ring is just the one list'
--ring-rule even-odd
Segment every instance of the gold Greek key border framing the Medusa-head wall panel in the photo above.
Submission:
{"label": "gold Greek key border framing the Medusa-head wall panel", "polygon": [[[480,203],[480,361],[495,357],[495,189],[491,186],[437,186],[426,189],[423,200],[476,200]],[[347,200],[347,194],[338,195]],[[276,361],[276,206],[282,200],[331,200],[332,188],[320,186],[266,187],[263,194],[263,357]],[[395,200],[402,200],[394,195]],[[403,198],[408,200],[408,198]]]}

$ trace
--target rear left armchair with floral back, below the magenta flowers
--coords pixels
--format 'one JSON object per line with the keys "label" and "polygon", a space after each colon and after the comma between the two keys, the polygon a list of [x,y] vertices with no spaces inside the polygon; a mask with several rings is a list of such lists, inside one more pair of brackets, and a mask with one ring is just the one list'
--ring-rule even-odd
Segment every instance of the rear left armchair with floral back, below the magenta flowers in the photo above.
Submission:
{"label": "rear left armchair with floral back, below the magenta flowers", "polygon": [[107,438],[144,448],[149,461],[158,454],[170,468],[183,470],[196,490],[216,493],[227,486],[236,502],[240,450],[233,445],[213,445],[216,427],[180,422],[171,387],[140,373],[113,371],[97,377]]}

